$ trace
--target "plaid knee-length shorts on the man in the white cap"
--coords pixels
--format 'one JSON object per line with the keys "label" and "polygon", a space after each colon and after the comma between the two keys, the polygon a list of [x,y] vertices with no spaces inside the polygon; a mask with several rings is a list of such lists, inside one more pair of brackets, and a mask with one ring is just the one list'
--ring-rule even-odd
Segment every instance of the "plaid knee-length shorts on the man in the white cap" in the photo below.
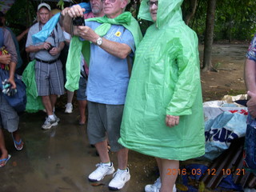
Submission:
{"label": "plaid knee-length shorts on the man in the white cap", "polygon": [[52,64],[36,62],[34,70],[38,96],[64,94],[62,62],[60,60]]}

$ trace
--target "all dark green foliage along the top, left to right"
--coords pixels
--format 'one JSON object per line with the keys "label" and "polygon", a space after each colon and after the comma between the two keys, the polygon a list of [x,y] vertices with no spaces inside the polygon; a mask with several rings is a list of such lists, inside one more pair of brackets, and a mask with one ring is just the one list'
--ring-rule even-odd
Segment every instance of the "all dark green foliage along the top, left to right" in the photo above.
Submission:
{"label": "all dark green foliage along the top, left to right", "polygon": [[[209,0],[210,1],[210,0]],[[74,3],[82,0],[74,0]],[[83,1],[89,2],[89,1]],[[134,18],[137,18],[140,1],[131,0],[126,10],[130,11]],[[10,26],[15,34],[19,34],[28,26],[31,26],[36,18],[36,8],[39,2],[33,0],[17,0],[6,14],[7,25]],[[58,6],[63,9],[67,5],[63,0],[58,2],[48,2],[50,6]],[[214,40],[250,40],[256,31],[256,1],[255,0],[222,0],[217,1]],[[190,0],[184,0],[182,4],[182,13],[186,14],[190,9]],[[197,10],[194,18],[190,21],[190,27],[196,31],[199,40],[204,38],[206,30],[206,11],[207,1],[198,0]],[[183,15],[184,16],[184,15]],[[145,32],[147,26],[151,23],[139,21],[142,31]]]}

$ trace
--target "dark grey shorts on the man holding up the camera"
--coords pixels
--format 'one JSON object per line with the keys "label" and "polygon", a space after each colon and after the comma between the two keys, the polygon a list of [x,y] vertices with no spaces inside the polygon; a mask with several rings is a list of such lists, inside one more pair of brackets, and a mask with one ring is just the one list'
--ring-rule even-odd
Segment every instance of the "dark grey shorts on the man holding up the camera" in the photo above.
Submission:
{"label": "dark grey shorts on the man holding up the camera", "polygon": [[111,151],[117,152],[124,148],[118,143],[123,107],[124,105],[88,102],[87,133],[90,144],[105,141],[107,134]]}

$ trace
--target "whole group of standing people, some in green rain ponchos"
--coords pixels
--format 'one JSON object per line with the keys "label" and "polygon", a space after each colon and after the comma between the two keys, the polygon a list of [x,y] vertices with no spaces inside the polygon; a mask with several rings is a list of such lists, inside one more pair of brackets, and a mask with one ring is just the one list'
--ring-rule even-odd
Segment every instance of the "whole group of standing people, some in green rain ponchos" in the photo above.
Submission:
{"label": "whole group of standing people, some in green rain ponchos", "polygon": [[[38,22],[22,35],[28,32],[26,52],[34,60],[38,97],[47,114],[42,129],[58,125],[55,104],[65,88],[65,113],[72,113],[76,90],[78,123],[87,124],[89,142],[100,158],[97,169],[88,175],[90,182],[113,174],[109,188],[122,189],[131,178],[128,152],[135,150],[154,157],[158,164],[159,178],[145,186],[145,191],[176,191],[178,174],[170,175],[168,170],[178,170],[179,161],[205,153],[198,38],[182,20],[182,0],[142,0],[138,18],[153,23],[144,37],[136,19],[125,11],[129,3],[90,0],[90,12],[80,4],[66,7],[46,39],[35,43],[34,35],[53,14],[49,4],[38,5]],[[74,25],[77,18],[82,18],[82,23]],[[9,53],[0,55],[0,63],[9,66],[8,81],[15,89],[19,50],[4,25],[4,14],[0,14],[0,33],[0,46]],[[246,60],[246,86],[251,91],[248,106],[253,118],[255,53],[251,49]],[[12,134],[15,148],[22,150],[18,114],[2,93],[0,101],[1,127]],[[0,167],[10,159],[2,128]],[[117,154],[118,165],[111,162],[108,146]]]}

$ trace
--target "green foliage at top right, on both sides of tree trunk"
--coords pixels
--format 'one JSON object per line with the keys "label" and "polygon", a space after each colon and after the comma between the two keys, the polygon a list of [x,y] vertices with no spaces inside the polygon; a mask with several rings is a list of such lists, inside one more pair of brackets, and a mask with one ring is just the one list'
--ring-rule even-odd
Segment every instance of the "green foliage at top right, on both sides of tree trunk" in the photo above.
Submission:
{"label": "green foliage at top right, on both sides of tree trunk", "polygon": [[[187,9],[183,5],[182,9]],[[256,31],[255,0],[222,0],[217,1],[214,25],[214,40],[250,40]],[[194,20],[190,26],[198,36],[204,36],[206,29],[207,1],[198,0],[198,7]]]}

